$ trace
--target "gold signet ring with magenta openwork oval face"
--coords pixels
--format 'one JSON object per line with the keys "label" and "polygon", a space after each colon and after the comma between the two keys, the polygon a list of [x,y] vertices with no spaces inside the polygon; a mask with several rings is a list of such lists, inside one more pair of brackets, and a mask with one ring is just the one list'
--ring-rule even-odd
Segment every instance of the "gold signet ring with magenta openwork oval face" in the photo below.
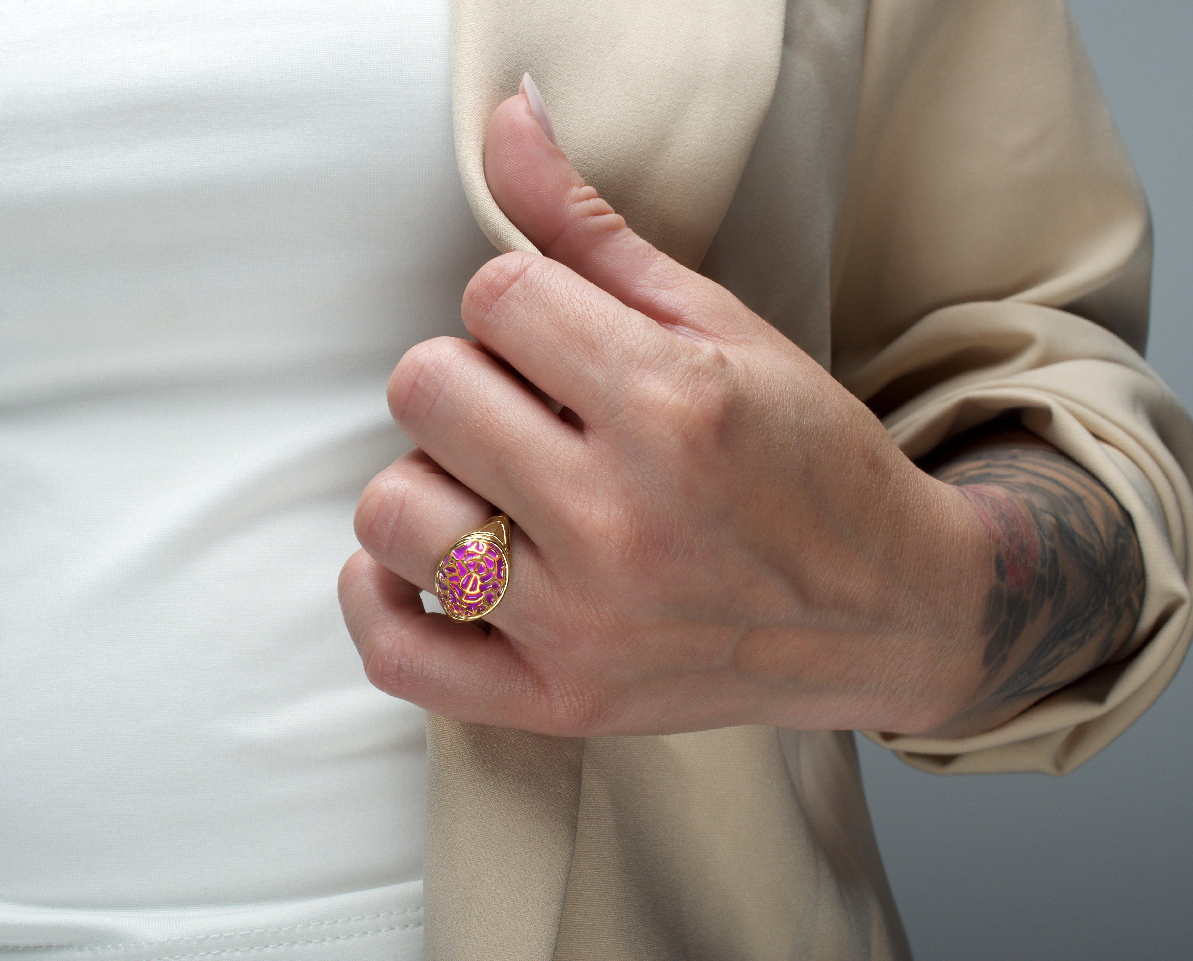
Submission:
{"label": "gold signet ring with magenta openwork oval face", "polygon": [[490,517],[453,543],[435,568],[435,595],[452,621],[478,621],[489,614],[509,586],[512,522],[503,513]]}

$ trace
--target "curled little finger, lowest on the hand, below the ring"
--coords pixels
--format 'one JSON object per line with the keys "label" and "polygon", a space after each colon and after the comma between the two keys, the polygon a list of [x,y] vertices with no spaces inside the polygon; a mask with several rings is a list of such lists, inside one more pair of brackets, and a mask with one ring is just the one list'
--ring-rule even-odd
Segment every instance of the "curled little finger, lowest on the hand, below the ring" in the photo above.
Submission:
{"label": "curled little finger, lowest on the hand, below the ring", "polygon": [[387,694],[463,721],[536,715],[534,673],[499,630],[427,614],[418,585],[363,550],[340,573],[340,606],[369,680]]}

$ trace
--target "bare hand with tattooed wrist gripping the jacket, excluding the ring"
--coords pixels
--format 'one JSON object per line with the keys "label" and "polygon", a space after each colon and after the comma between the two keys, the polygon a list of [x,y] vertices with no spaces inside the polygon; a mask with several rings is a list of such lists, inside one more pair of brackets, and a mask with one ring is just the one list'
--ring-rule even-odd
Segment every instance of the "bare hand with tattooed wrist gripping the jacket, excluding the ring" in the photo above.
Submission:
{"label": "bare hand with tattooed wrist gripping the jacket, excluding the ring", "polygon": [[[1121,655],[1142,561],[1080,467],[1007,425],[913,463],[630,232],[521,96],[494,113],[486,177],[543,255],[489,261],[463,298],[476,341],[420,344],[390,380],[418,449],[366,487],[340,578],[375,685],[550,734],[962,735]],[[488,624],[426,614],[493,505],[515,523],[506,597]]]}

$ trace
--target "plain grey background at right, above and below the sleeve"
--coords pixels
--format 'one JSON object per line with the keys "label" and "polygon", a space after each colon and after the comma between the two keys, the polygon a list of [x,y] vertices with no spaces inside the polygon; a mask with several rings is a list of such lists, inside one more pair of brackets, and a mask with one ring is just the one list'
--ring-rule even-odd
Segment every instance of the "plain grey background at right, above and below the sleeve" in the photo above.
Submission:
{"label": "plain grey background at right, above and below the sleeve", "polygon": [[[1155,217],[1148,359],[1193,409],[1193,0],[1070,6]],[[917,961],[1193,959],[1193,665],[1064,778],[859,750]]]}

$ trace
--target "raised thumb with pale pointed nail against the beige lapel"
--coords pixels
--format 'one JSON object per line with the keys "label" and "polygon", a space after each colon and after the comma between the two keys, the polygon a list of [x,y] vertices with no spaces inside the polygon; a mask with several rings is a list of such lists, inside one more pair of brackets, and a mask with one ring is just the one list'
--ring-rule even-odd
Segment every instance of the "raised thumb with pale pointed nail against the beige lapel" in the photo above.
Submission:
{"label": "raised thumb with pale pointed nail against the beige lapel", "polygon": [[706,303],[716,284],[633,233],[585,183],[555,144],[530,74],[489,121],[484,178],[497,207],[546,257],[661,324],[705,326],[693,307]]}

